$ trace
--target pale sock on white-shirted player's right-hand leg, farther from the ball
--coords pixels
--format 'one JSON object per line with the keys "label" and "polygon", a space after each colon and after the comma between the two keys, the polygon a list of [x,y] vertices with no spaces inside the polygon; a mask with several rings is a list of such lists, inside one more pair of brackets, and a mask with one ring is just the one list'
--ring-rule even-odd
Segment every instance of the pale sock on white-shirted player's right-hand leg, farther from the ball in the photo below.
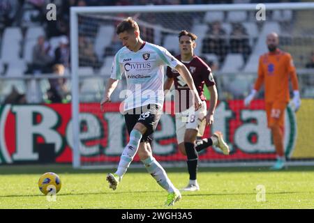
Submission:
{"label": "pale sock on white-shirted player's right-hand leg, farther from the ball", "polygon": [[144,166],[149,174],[154,177],[154,179],[161,187],[163,187],[163,189],[170,193],[176,190],[168,178],[165,170],[160,166],[154,157],[148,157],[146,160],[142,160],[142,162],[144,163]]}

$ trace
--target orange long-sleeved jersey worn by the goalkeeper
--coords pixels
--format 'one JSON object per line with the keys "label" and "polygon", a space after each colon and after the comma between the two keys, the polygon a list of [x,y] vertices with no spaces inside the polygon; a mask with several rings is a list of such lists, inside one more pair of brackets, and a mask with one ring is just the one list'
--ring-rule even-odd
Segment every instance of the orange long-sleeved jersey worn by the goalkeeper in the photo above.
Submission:
{"label": "orange long-sleeved jersey worn by the goalkeeper", "polygon": [[293,90],[299,90],[297,73],[290,54],[277,49],[276,52],[260,56],[254,89],[258,91],[264,84],[266,102],[289,102],[289,79]]}

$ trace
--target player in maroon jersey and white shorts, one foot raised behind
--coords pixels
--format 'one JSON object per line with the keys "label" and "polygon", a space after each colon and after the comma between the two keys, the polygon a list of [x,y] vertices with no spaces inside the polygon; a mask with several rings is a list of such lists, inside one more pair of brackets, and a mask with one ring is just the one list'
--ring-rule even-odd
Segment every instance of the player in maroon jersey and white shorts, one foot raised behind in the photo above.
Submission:
{"label": "player in maroon jersey and white shorts, one foot raised behind", "polygon": [[[188,173],[190,174],[189,183],[184,187],[184,191],[200,190],[200,186],[196,180],[198,162],[197,152],[202,151],[208,146],[218,146],[218,148],[223,151],[223,154],[229,154],[229,147],[225,141],[223,141],[223,134],[221,134],[221,132],[214,132],[210,138],[202,139],[195,144],[196,137],[203,135],[205,125],[212,125],[214,123],[214,112],[218,98],[211,68],[209,68],[200,57],[194,54],[196,39],[197,36],[195,34],[185,30],[181,31],[179,33],[179,47],[181,54],[176,56],[176,58],[184,63],[186,68],[190,70],[197,92],[202,100],[201,109],[198,109],[196,112],[193,109],[192,93],[190,93],[188,85],[176,70],[173,70],[170,67],[167,68],[167,79],[164,84],[165,93],[171,89],[173,83],[176,90],[174,100],[176,101],[177,142],[179,151],[187,156]],[[211,93],[208,111],[206,98],[203,94],[204,84],[207,85],[207,88]]]}

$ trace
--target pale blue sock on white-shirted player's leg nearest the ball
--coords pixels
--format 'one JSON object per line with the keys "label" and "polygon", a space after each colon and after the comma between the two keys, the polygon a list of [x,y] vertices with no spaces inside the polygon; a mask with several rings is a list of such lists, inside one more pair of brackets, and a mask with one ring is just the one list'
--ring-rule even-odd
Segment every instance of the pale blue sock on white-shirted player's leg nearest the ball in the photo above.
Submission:
{"label": "pale blue sock on white-shirted player's leg nearest the ball", "polygon": [[132,132],[130,132],[130,141],[128,141],[128,144],[126,145],[124,151],[122,152],[119,166],[115,174],[119,175],[120,177],[124,176],[126,170],[128,169],[130,163],[133,160],[133,157],[137,152],[138,147],[140,146],[141,139],[142,133],[139,132],[138,130],[132,130]]}

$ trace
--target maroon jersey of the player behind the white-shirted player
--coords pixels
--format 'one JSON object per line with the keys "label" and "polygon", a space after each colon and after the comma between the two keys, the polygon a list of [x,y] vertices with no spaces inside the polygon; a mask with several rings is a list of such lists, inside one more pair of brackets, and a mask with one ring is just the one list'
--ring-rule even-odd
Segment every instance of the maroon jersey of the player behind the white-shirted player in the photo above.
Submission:
{"label": "maroon jersey of the player behind the white-shirted player", "polygon": [[[176,56],[181,61],[181,55]],[[193,77],[194,84],[196,86],[198,95],[201,100],[206,100],[204,96],[204,84],[207,86],[213,86],[215,84],[214,77],[211,73],[211,68],[198,56],[193,56],[190,62],[181,61],[186,68],[190,70],[190,74]],[[188,88],[188,84],[184,81],[183,77],[179,75],[177,70],[167,67],[167,77],[173,78],[174,87],[177,90],[175,94],[176,102],[179,100],[179,105],[176,103],[176,111],[179,106],[179,112],[182,112],[192,106],[192,94]]]}

